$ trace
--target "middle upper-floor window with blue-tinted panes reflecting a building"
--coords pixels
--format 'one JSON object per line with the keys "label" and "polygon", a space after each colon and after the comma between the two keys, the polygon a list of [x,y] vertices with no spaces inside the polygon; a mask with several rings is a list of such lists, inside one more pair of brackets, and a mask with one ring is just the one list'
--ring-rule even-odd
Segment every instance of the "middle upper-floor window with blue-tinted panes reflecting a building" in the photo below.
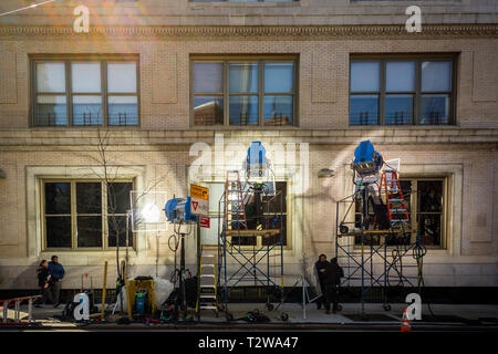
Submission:
{"label": "middle upper-floor window with blue-tinted panes reflecting a building", "polygon": [[194,126],[292,126],[292,59],[193,61]]}

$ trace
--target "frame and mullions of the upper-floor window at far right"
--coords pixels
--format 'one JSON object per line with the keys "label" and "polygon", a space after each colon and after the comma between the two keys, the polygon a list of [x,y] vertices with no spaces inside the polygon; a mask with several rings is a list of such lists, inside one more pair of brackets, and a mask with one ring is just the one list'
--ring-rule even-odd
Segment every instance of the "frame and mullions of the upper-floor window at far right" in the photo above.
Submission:
{"label": "frame and mullions of the upper-floor window at far right", "polygon": [[[450,63],[450,91],[448,92],[423,92],[422,91],[422,63],[425,61],[438,62],[449,61]],[[351,92],[351,63],[353,62],[378,62],[378,92]],[[414,91],[409,92],[386,92],[386,63],[387,62],[414,62],[415,63],[415,81]],[[458,54],[457,53],[416,53],[416,54],[350,54],[349,63],[349,84],[347,84],[347,124],[350,127],[355,126],[388,126],[388,127],[408,127],[408,126],[454,126],[457,125],[456,116],[456,98],[457,98],[457,67],[458,67]],[[376,124],[352,124],[351,123],[351,96],[354,95],[378,95],[378,118]],[[404,124],[386,124],[385,123],[385,98],[386,94],[409,94],[413,95],[413,117],[411,123]],[[445,124],[421,124],[421,102],[422,95],[427,94],[445,94],[449,96],[448,107],[448,123]]]}

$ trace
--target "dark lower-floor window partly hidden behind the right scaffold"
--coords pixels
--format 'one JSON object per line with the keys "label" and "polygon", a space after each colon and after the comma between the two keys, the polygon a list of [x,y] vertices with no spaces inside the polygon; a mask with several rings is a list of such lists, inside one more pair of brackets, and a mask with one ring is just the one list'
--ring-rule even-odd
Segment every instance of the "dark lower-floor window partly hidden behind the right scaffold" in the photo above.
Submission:
{"label": "dark lower-floor window partly hidden behind the right scaffold", "polygon": [[[425,246],[446,247],[445,210],[446,210],[446,179],[445,178],[402,178],[400,180],[403,196],[413,230],[421,231],[421,242]],[[375,218],[371,206],[371,219]],[[361,205],[355,204],[355,227],[360,227]],[[403,242],[403,240],[398,240]],[[416,233],[411,242],[416,241]],[[356,238],[356,243],[360,239]],[[378,239],[373,244],[378,244]],[[390,243],[398,244],[396,240]]]}

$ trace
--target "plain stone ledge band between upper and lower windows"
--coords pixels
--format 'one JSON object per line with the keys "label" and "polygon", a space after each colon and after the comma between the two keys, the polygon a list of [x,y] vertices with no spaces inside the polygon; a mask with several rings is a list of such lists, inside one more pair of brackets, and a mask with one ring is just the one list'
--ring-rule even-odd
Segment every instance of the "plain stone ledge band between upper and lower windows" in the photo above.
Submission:
{"label": "plain stone ledge band between upper and lower windows", "polygon": [[[197,142],[214,143],[215,134],[221,133],[226,140],[250,142],[264,139],[278,143],[310,143],[324,145],[351,145],[360,139],[376,144],[426,145],[465,144],[468,148],[498,146],[498,128],[413,128],[413,129],[264,129],[264,131],[110,131],[110,145],[117,148],[148,149],[151,146],[190,145]],[[50,146],[95,146],[95,129],[22,129],[0,131],[1,150],[38,150]],[[484,144],[484,145],[483,145]],[[483,145],[483,146],[480,146]]]}

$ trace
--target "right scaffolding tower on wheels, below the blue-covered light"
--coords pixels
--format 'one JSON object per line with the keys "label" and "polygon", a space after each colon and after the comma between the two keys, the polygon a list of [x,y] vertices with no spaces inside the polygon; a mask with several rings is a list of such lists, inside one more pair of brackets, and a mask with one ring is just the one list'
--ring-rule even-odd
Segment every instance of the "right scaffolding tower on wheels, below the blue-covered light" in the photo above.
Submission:
{"label": "right scaffolding tower on wheels, below the blue-covered light", "polygon": [[[385,180],[385,176],[382,178]],[[385,183],[384,188],[386,188]],[[403,200],[403,192],[398,184],[397,188],[401,194],[401,198],[398,198]],[[408,287],[418,287],[419,290],[422,258],[425,256],[426,249],[421,244],[419,232],[412,228],[409,220],[400,225],[401,219],[393,220],[388,214],[387,227],[384,223],[384,228],[380,228],[382,222],[376,212],[371,216],[374,222],[367,222],[363,212],[356,214],[355,207],[363,209],[361,204],[365,200],[361,198],[361,190],[356,190],[355,194],[336,202],[335,254],[339,264],[344,270],[341,287],[360,288],[362,315],[365,315],[364,304],[367,300],[381,300],[384,309],[388,311],[391,309],[390,290]],[[388,208],[388,198],[392,196],[392,191],[380,190],[380,195],[382,200],[387,201],[385,206]],[[340,212],[343,210],[345,211],[341,219]],[[352,217],[350,212],[354,212],[355,216]],[[406,209],[400,209],[398,212],[406,215]],[[405,262],[407,257],[415,261]],[[375,298],[374,290],[380,292],[381,299]]]}

